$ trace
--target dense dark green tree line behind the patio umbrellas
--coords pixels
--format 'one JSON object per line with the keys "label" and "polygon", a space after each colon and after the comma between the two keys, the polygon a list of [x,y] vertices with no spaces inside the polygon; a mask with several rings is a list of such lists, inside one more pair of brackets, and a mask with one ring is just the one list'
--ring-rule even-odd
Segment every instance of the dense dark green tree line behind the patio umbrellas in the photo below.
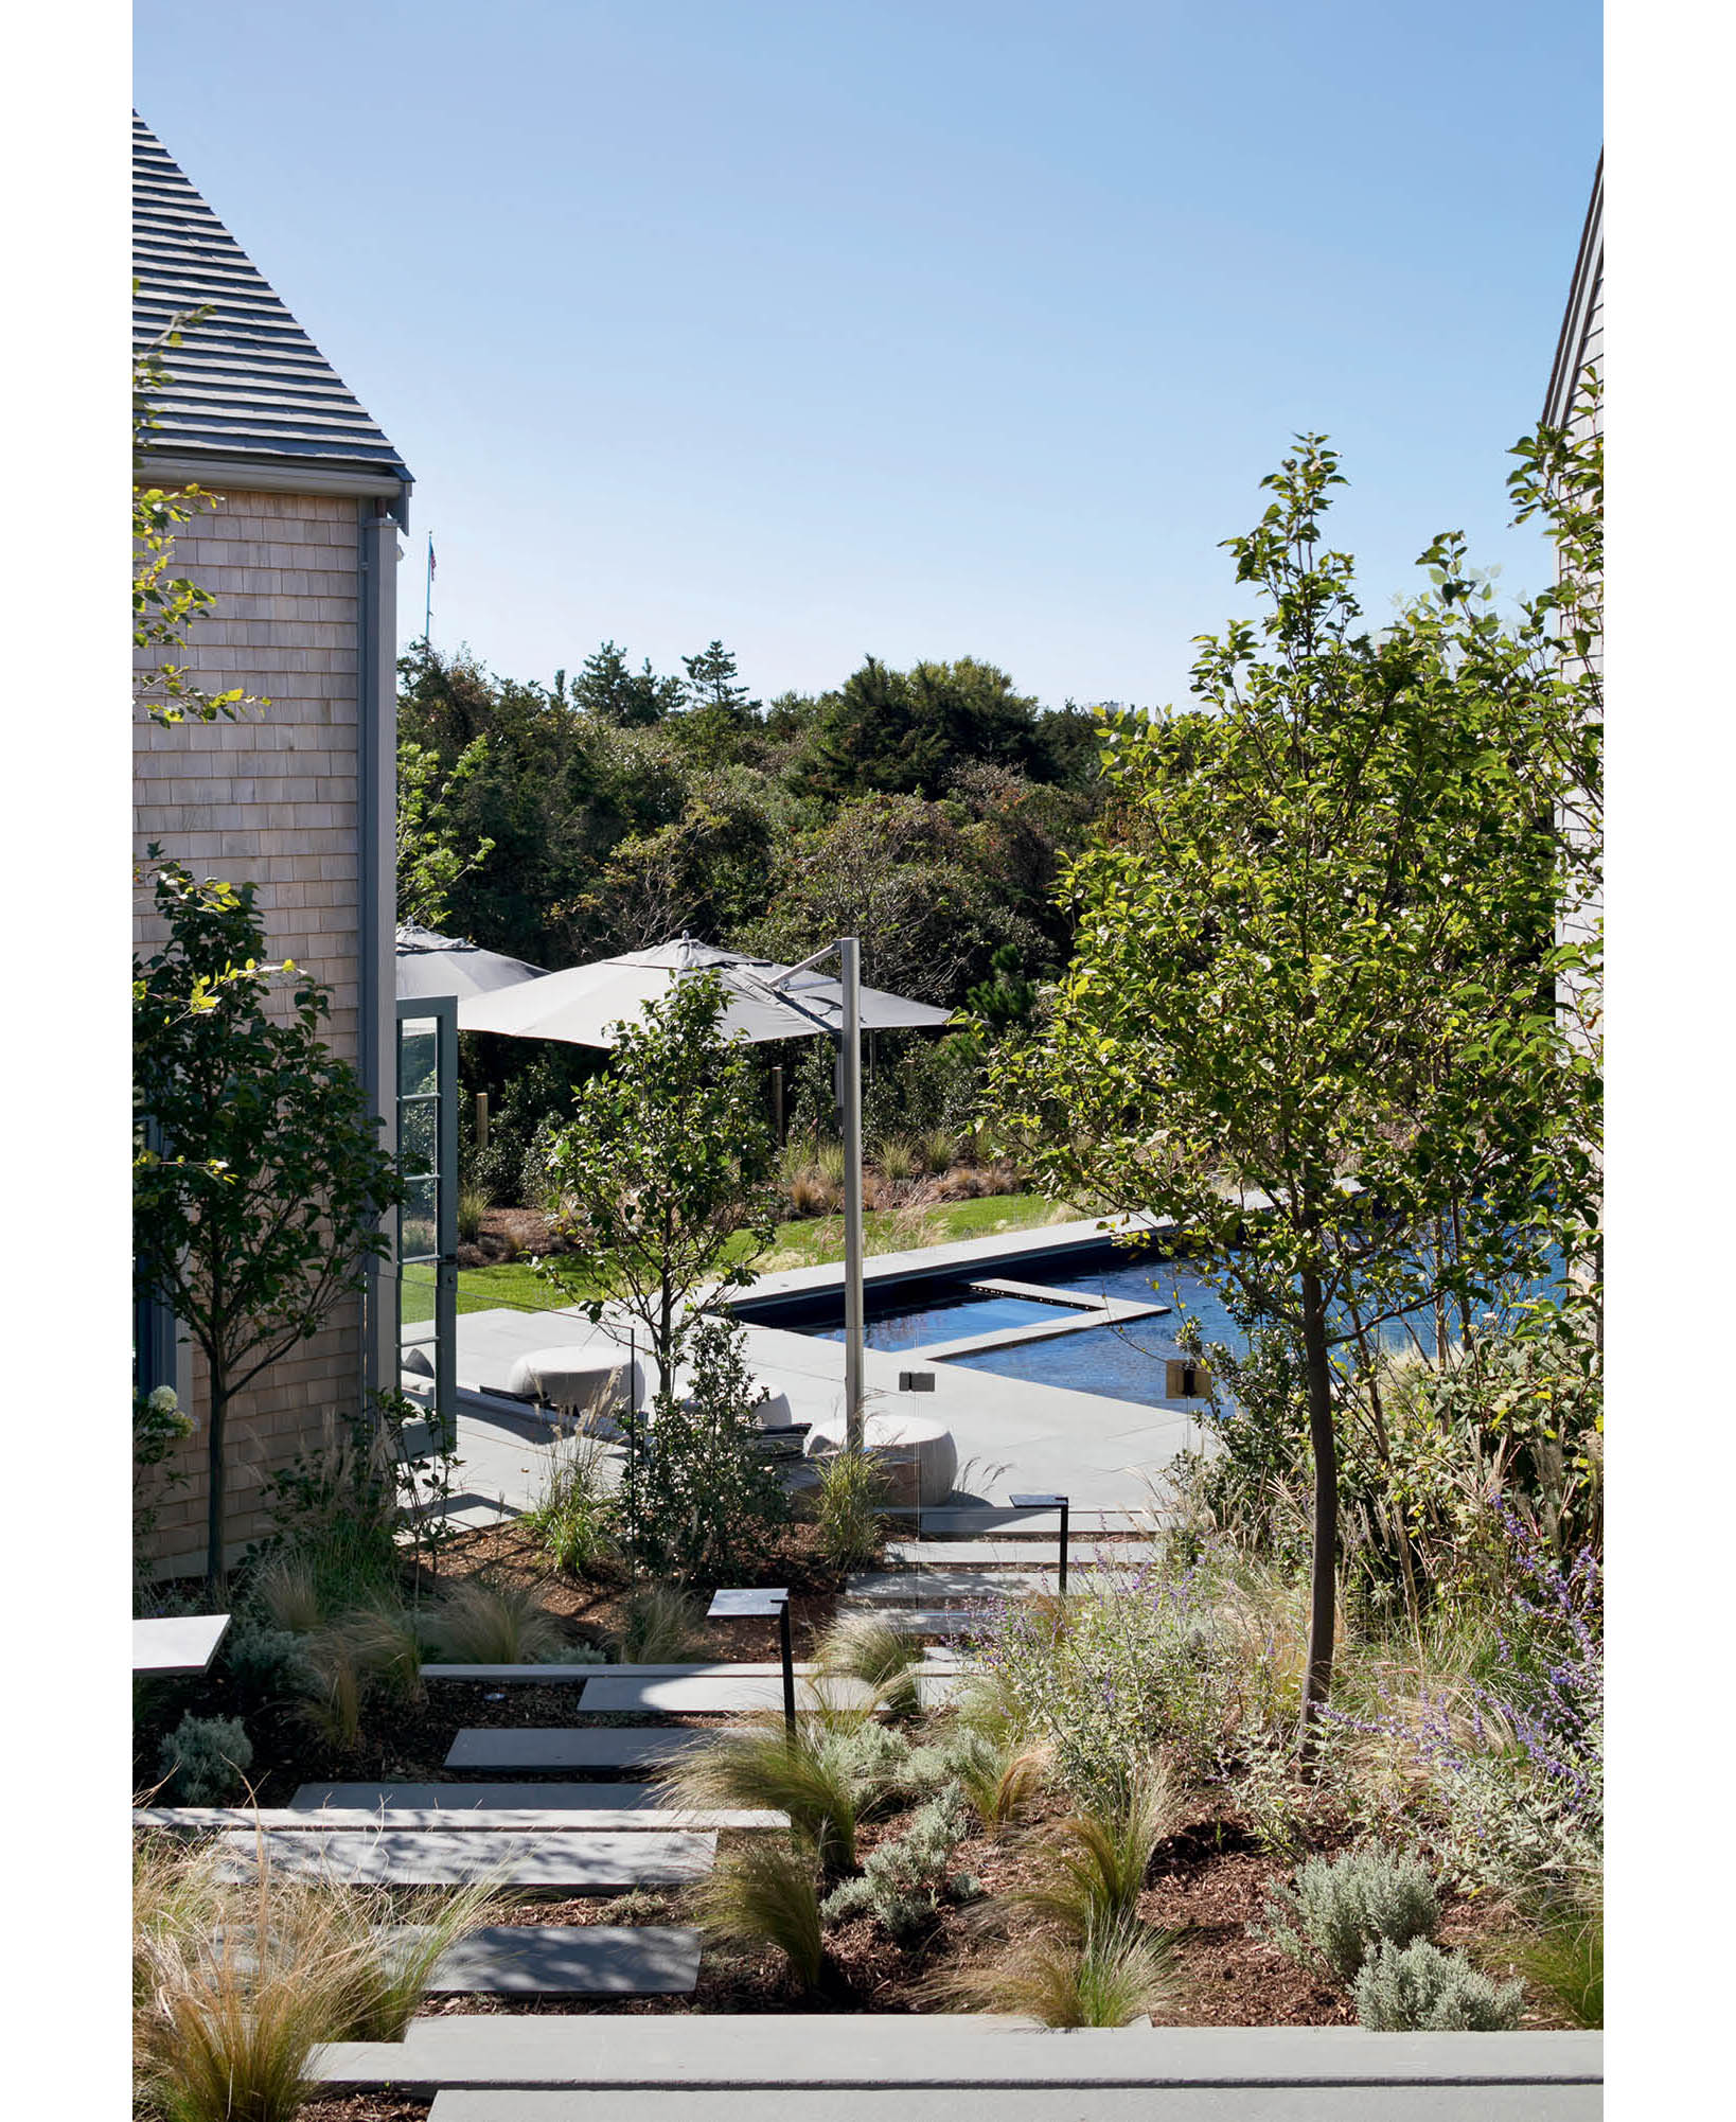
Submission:
{"label": "dense dark green tree line behind the patio umbrellas", "polygon": [[1099,808],[1087,711],[974,658],[870,656],[770,705],[719,641],[683,666],[605,641],[541,685],[403,658],[401,764],[437,825],[405,866],[435,859],[454,934],[558,970],[681,932],[787,957],[860,932],[874,985],[938,1004],[1008,946],[1059,972],[1055,879]]}

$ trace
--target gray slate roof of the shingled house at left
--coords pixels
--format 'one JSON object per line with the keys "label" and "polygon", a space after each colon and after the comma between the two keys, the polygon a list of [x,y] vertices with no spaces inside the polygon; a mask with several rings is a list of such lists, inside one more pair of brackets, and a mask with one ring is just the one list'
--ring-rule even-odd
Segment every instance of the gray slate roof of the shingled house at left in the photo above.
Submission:
{"label": "gray slate roof of the shingled house at left", "polygon": [[134,112],[134,344],[180,310],[210,303],[168,348],[149,448],[176,460],[257,463],[316,484],[342,473],[382,488],[410,480],[403,458],[206,206],[163,142]]}

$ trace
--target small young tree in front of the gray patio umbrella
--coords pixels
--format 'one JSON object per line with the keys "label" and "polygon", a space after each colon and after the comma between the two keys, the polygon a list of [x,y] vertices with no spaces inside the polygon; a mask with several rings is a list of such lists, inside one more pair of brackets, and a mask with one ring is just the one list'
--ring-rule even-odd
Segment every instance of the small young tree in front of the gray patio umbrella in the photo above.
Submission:
{"label": "small young tree in front of the gray patio umbrella", "polygon": [[613,1067],[579,1086],[550,1150],[571,1250],[539,1271],[592,1320],[624,1305],[662,1392],[702,1299],[751,1282],[745,1254],[777,1227],[760,1076],[749,1048],[722,1038],[722,1016],[715,974],[647,1002],[637,1025],[618,1027]]}

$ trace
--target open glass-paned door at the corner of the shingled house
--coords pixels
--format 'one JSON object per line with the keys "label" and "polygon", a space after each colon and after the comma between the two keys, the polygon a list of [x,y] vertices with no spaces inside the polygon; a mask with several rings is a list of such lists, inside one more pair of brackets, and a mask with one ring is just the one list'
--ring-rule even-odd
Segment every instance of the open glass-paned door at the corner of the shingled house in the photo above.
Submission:
{"label": "open glass-paned door at the corner of the shingled house", "polygon": [[403,1390],[456,1447],[458,1326],[458,1002],[397,1006],[397,1343]]}

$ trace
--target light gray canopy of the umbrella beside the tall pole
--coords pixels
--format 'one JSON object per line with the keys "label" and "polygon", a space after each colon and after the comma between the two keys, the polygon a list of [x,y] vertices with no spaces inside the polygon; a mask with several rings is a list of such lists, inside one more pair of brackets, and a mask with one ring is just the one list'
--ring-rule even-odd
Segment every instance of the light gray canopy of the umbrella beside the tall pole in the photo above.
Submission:
{"label": "light gray canopy of the umbrella beside the tall pole", "polygon": [[[656,1002],[692,972],[717,972],[728,997],[724,1036],[732,1040],[800,1040],[843,1027],[843,987],[821,972],[800,972],[783,993],[770,982],[789,968],[739,951],[715,951],[681,936],[654,951],[628,951],[594,966],[545,972],[541,980],[494,993],[458,997],[461,1031],[503,1031],[520,1040],[567,1040],[573,1046],[613,1046],[613,1027],[637,1023],[647,1002]],[[450,989],[446,989],[450,993]],[[906,1002],[876,987],[862,989],[862,1029],[938,1029],[951,1010],[927,1002]]]}

